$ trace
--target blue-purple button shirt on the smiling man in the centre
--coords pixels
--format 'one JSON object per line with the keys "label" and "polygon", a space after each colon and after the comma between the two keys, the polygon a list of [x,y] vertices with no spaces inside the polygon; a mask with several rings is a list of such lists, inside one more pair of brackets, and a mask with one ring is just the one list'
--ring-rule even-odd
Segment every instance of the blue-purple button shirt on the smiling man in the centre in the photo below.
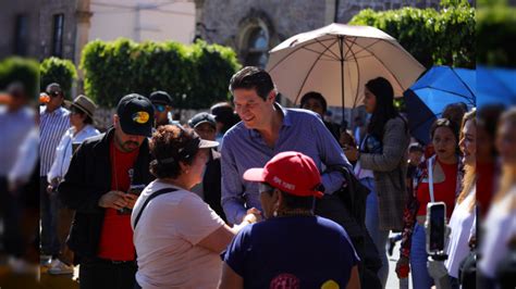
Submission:
{"label": "blue-purple button shirt on the smiling man in the centre", "polygon": [[[222,208],[228,222],[239,224],[247,209],[261,210],[258,184],[245,181],[242,176],[250,167],[263,167],[275,154],[283,151],[298,151],[310,156],[319,172],[329,166],[352,167],[343,150],[324,126],[320,117],[310,111],[284,109],[283,124],[274,148],[255,129],[248,129],[241,122],[224,135],[222,146]],[[321,175],[325,193],[341,188],[344,177],[340,172]]]}

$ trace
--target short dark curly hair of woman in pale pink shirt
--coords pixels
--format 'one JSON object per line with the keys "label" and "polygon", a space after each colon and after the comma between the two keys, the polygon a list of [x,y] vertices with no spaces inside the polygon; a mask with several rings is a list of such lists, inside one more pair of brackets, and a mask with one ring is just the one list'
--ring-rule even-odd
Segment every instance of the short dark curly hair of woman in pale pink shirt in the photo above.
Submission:
{"label": "short dark curly hair of woman in pale pink shirt", "polygon": [[200,138],[191,128],[163,125],[152,134],[149,148],[153,156],[150,173],[157,178],[176,178],[181,175],[180,162],[191,165],[199,151]]}

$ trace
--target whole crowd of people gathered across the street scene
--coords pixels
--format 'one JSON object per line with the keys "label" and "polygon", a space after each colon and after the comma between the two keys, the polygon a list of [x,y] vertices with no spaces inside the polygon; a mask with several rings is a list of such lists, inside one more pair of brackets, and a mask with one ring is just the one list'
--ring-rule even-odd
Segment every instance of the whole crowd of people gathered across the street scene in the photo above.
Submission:
{"label": "whole crowd of people gathered across the street scene", "polygon": [[[419,143],[382,77],[365,85],[369,117],[354,131],[325,120],[317,91],[282,106],[261,68],[229,87],[233,105],[184,124],[168,92],[127,95],[100,134],[88,97],[67,102],[51,84],[38,114],[10,86],[0,186],[13,269],[33,248],[48,274],[78,265],[81,288],[385,288],[401,240],[395,271],[416,289],[513,281],[514,110],[452,104]],[[435,254],[427,208],[439,202]],[[40,234],[37,213],[22,217],[38,208]]]}

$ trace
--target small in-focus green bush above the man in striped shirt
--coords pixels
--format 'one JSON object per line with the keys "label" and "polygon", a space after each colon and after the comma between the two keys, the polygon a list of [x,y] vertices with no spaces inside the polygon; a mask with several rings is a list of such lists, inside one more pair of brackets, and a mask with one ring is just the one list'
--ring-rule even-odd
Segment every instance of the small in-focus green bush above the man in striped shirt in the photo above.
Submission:
{"label": "small in-focus green bush above the man in striped shirt", "polygon": [[65,97],[70,98],[73,83],[77,79],[77,71],[70,60],[48,58],[39,64],[39,76],[41,91],[45,91],[49,84],[58,83],[64,90]]}

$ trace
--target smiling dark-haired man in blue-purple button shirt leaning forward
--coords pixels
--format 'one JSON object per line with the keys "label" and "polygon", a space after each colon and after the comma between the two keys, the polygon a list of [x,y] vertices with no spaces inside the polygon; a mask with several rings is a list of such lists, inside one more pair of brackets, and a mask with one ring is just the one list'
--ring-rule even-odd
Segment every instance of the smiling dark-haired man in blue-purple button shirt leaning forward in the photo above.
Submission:
{"label": "smiling dark-haired man in blue-purple button shirt leaning forward", "polygon": [[[230,91],[242,122],[222,141],[222,208],[228,222],[242,223],[248,213],[260,214],[258,185],[242,179],[247,168],[261,167],[283,151],[310,156],[321,175],[324,194],[337,191],[344,176],[327,168],[351,168],[336,139],[314,112],[284,109],[275,102],[278,91],[263,70],[247,66],[233,75]],[[327,198],[325,198],[327,199]]]}

